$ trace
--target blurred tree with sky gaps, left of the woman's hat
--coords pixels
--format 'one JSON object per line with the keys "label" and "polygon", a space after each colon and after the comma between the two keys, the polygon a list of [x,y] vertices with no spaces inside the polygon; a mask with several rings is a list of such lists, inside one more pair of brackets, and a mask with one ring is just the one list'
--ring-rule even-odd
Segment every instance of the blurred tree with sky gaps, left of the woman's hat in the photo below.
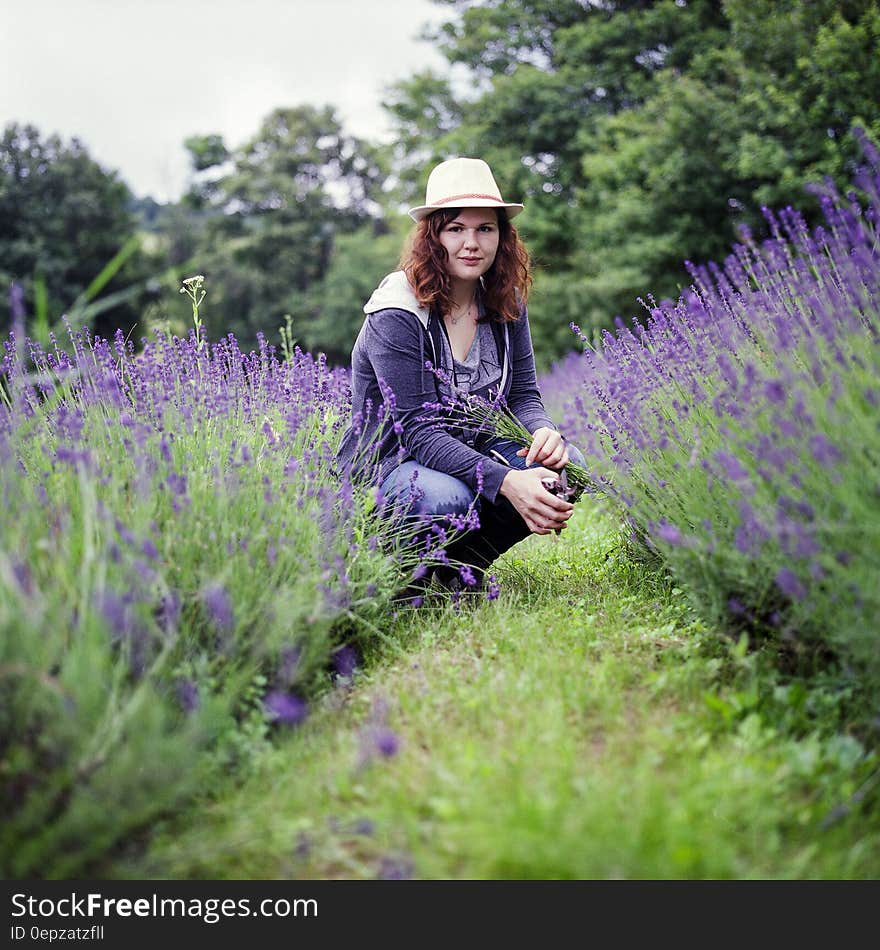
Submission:
{"label": "blurred tree with sky gaps, left of the woman's hat", "polygon": [[[337,236],[378,214],[387,168],[329,107],[276,109],[231,152],[216,136],[187,145],[203,173],[186,201],[203,218],[196,257],[206,327],[253,341],[320,283]],[[228,170],[218,175],[216,162]]]}

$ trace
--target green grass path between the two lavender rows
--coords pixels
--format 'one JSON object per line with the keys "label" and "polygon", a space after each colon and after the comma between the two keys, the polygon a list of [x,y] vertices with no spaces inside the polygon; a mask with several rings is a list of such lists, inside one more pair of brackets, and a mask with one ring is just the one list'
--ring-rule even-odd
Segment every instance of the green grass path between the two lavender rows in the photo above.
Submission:
{"label": "green grass path between the two lavender rows", "polygon": [[587,501],[497,566],[498,600],[398,615],[250,776],[102,875],[878,876],[877,756],[842,674],[786,678],[707,630]]}

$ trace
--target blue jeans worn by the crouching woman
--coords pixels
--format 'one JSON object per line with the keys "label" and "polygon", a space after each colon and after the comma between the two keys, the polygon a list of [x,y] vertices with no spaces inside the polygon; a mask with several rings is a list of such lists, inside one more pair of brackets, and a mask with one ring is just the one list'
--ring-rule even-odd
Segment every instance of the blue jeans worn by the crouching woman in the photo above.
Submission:
{"label": "blue jeans worn by the crouching woman", "polygon": [[[525,458],[516,454],[520,448],[521,445],[509,439],[493,439],[481,446],[480,450],[488,455],[489,450],[494,449],[507,460],[511,468],[524,469]],[[579,449],[573,445],[567,448],[572,462],[586,464]],[[534,464],[529,466],[534,467]],[[413,482],[416,473],[417,478]],[[416,485],[415,494],[412,491],[413,484]],[[408,514],[418,519],[465,515],[471,506],[475,507],[480,527],[456,538],[446,548],[446,554],[452,561],[471,565],[478,580],[497,557],[531,534],[522,515],[506,498],[498,495],[495,502],[491,502],[477,495],[460,479],[425,468],[417,462],[404,462],[390,472],[382,482],[381,491],[389,501],[403,503]]]}

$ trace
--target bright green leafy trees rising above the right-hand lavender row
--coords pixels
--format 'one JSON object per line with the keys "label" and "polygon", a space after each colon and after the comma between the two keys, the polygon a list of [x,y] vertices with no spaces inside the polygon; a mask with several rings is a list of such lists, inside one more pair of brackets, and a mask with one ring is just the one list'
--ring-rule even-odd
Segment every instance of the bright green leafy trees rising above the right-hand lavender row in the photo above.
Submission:
{"label": "bright green leafy trees rising above the right-hand lavender row", "polygon": [[742,225],[766,233],[764,206],[818,219],[808,185],[830,176],[848,188],[852,126],[880,134],[876,4],[735,0],[725,10],[727,46],[697,53],[687,73],[662,71],[644,103],[581,139],[587,213],[575,262],[594,321],[601,310],[631,316],[639,293],[677,296],[690,280],[683,261],[723,260]]}

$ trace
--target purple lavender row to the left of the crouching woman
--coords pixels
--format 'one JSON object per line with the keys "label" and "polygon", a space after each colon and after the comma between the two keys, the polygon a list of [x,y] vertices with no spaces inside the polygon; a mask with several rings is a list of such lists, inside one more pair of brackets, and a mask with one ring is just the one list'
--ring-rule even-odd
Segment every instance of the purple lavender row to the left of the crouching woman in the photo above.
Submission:
{"label": "purple lavender row to the left of the crouching woman", "polygon": [[345,374],[198,330],[6,342],[7,876],[81,873],[246,767],[415,566],[333,471]]}

